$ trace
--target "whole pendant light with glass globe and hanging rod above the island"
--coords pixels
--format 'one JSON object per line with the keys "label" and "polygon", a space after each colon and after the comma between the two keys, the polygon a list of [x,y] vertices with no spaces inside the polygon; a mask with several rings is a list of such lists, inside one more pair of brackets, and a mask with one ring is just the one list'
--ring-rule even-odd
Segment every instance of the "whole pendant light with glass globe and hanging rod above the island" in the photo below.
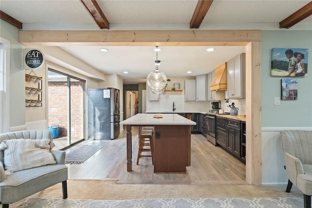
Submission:
{"label": "whole pendant light with glass globe and hanging rod above the island", "polygon": [[[158,63],[158,46],[156,46],[156,63]],[[159,61],[160,62],[160,61]],[[147,84],[152,89],[152,92],[159,95],[164,92],[167,84],[167,76],[161,72],[156,66],[155,70],[147,76]]]}

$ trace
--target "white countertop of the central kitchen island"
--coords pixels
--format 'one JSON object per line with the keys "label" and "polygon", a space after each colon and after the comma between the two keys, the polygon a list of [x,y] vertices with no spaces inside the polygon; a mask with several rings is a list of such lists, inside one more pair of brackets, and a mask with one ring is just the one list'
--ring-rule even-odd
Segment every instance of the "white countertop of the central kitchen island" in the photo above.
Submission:
{"label": "white countertop of the central kitchen island", "polygon": [[[161,113],[155,113],[160,115]],[[163,113],[162,118],[153,118],[154,113],[138,113],[124,121],[121,125],[196,125],[191,121],[176,113]]]}

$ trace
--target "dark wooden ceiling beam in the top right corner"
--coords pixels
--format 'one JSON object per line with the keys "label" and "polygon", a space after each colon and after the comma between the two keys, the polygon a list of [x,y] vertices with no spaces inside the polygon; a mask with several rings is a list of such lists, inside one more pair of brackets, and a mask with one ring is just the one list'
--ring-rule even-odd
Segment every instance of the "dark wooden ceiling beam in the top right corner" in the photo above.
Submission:
{"label": "dark wooden ceiling beam in the top right corner", "polygon": [[312,15],[312,1],[307,5],[303,6],[301,9],[294,12],[288,18],[279,22],[279,28],[290,28],[311,15]]}

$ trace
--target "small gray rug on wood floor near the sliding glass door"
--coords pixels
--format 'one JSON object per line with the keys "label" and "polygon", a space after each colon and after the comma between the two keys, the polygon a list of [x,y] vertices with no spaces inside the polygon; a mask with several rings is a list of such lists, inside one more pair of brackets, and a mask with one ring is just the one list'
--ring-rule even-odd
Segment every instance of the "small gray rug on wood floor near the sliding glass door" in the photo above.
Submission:
{"label": "small gray rug on wood floor near the sliding glass door", "polygon": [[103,145],[83,145],[81,147],[78,147],[76,150],[66,153],[65,164],[81,164],[98,150],[100,150],[102,147]]}

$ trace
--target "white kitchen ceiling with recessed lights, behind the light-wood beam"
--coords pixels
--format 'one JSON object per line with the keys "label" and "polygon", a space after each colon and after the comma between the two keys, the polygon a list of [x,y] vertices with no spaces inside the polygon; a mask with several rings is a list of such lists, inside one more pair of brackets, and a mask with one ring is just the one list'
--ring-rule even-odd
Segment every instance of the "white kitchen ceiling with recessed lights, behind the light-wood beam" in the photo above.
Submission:
{"label": "white kitchen ceiling with recessed lights, behind the light-wood beam", "polygon": [[[156,52],[152,46],[61,46],[66,52],[83,59],[91,66],[106,74],[117,74],[124,78],[124,83],[145,82],[146,76],[155,70]],[[101,52],[106,48],[108,52]],[[196,76],[213,71],[223,62],[227,62],[245,47],[214,46],[214,52],[207,52],[205,46],[161,46],[158,52],[160,71],[170,77]],[[83,53],[81,50],[83,49]],[[123,72],[127,71],[128,74]],[[187,74],[192,71],[192,74]]]}

